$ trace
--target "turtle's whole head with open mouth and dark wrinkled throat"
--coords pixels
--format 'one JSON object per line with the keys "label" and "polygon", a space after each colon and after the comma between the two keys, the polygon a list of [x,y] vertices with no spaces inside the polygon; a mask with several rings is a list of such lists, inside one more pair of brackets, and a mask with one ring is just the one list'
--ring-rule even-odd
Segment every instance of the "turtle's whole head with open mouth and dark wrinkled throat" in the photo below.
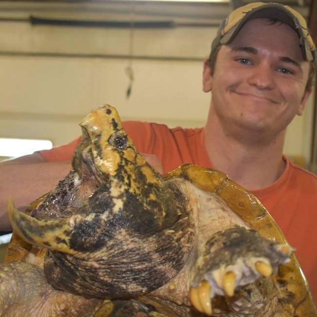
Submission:
{"label": "turtle's whole head with open mouth and dark wrinkled throat", "polygon": [[[12,227],[27,242],[49,249],[44,269],[57,288],[102,298],[155,289],[177,274],[185,258],[183,242],[174,235],[185,225],[179,225],[186,218],[184,204],[175,199],[181,194],[137,152],[115,108],[97,108],[80,126],[82,139],[69,174],[25,213],[9,200]],[[162,266],[168,271],[170,263],[173,270],[158,278],[156,267],[162,260],[158,253],[166,245],[171,255]],[[124,286],[122,292],[127,275],[134,286],[129,290]],[[91,292],[86,292],[87,281],[94,281]]]}

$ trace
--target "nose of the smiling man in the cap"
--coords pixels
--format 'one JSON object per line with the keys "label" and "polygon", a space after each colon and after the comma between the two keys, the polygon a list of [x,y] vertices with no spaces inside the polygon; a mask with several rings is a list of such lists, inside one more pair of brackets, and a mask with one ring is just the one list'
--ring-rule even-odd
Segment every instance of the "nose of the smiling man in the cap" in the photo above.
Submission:
{"label": "nose of the smiling man in the cap", "polygon": [[275,86],[274,69],[268,63],[256,65],[248,78],[248,83],[258,89],[273,89]]}

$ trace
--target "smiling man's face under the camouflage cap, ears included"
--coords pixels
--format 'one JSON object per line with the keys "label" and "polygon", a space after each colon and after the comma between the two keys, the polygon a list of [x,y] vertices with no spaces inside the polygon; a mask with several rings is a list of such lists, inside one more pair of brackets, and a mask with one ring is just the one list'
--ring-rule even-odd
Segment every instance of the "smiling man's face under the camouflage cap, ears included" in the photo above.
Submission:
{"label": "smiling man's face under the camouflage cap, ears included", "polygon": [[290,26],[254,19],[220,48],[213,76],[205,64],[204,91],[224,125],[276,135],[301,115],[310,66],[298,43]]}

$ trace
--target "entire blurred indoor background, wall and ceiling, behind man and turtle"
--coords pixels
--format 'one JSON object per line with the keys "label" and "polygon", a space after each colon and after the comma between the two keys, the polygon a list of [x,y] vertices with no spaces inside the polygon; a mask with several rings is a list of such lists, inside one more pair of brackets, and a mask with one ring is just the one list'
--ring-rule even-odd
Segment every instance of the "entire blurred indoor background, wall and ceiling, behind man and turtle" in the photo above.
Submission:
{"label": "entire blurred indoor background, wall and ceiling, behind man and turtle", "polygon": [[[220,21],[248,2],[0,1],[0,138],[67,143],[104,103],[123,120],[204,125],[203,60]],[[313,0],[276,2],[317,29]],[[284,152],[316,173],[315,105],[314,94],[291,123]]]}

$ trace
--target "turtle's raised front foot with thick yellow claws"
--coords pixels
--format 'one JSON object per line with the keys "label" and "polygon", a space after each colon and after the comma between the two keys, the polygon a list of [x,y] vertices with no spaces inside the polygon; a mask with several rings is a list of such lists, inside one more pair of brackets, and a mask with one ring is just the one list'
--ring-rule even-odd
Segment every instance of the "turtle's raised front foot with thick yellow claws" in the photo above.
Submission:
{"label": "turtle's raised front foot with thick yellow claws", "polygon": [[192,305],[208,316],[270,316],[277,300],[272,276],[291,252],[240,226],[216,233],[197,260]]}

